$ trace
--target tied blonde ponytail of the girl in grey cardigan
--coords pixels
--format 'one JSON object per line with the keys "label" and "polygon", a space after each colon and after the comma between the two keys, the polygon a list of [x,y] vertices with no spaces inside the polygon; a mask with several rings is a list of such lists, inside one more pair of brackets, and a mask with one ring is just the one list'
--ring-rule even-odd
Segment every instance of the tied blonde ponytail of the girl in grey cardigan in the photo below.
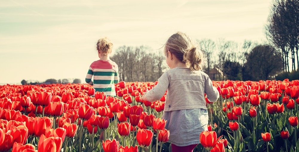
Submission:
{"label": "tied blonde ponytail of the girl in grey cardigan", "polygon": [[201,50],[193,46],[184,56],[186,56],[187,59],[186,65],[189,66],[192,71],[202,69],[203,53]]}

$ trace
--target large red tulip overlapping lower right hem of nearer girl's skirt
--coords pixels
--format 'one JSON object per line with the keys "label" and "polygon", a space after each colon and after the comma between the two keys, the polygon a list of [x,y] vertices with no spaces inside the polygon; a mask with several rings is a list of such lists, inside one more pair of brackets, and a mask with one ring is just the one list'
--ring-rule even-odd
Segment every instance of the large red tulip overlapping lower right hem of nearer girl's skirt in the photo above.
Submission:
{"label": "large red tulip overlapping lower right hem of nearer girl's skirt", "polygon": [[217,142],[217,134],[215,131],[203,131],[199,136],[200,143],[208,150],[215,147]]}

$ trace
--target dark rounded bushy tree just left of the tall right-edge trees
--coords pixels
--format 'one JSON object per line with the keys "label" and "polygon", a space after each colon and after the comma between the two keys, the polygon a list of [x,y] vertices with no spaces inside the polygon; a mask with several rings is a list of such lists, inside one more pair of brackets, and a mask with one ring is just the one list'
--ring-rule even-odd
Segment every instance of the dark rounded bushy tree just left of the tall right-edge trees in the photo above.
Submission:
{"label": "dark rounded bushy tree just left of the tall right-edge trees", "polygon": [[280,53],[271,45],[254,47],[246,60],[243,80],[267,80],[283,68]]}

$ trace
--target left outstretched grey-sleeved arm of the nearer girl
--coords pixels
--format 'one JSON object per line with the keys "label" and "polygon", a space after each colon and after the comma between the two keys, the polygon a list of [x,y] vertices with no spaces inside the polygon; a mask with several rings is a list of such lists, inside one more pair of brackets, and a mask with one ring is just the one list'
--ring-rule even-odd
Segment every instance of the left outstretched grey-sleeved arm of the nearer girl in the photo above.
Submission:
{"label": "left outstretched grey-sleeved arm of the nearer girl", "polygon": [[165,94],[169,86],[169,82],[169,75],[167,72],[164,72],[164,74],[158,79],[158,84],[154,88],[144,93],[141,99],[150,102],[160,100],[161,97],[163,97],[163,95]]}

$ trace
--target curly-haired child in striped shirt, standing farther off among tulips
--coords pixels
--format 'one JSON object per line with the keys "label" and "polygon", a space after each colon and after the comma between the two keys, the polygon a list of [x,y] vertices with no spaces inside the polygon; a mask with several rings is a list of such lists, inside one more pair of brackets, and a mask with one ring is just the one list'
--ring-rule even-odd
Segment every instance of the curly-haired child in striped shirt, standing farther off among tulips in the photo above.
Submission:
{"label": "curly-haired child in striped shirt, standing farther off among tulips", "polygon": [[97,41],[97,54],[100,60],[91,63],[85,81],[93,85],[95,91],[105,92],[106,95],[115,97],[114,84],[118,83],[118,66],[109,58],[112,46],[113,44],[106,37]]}

